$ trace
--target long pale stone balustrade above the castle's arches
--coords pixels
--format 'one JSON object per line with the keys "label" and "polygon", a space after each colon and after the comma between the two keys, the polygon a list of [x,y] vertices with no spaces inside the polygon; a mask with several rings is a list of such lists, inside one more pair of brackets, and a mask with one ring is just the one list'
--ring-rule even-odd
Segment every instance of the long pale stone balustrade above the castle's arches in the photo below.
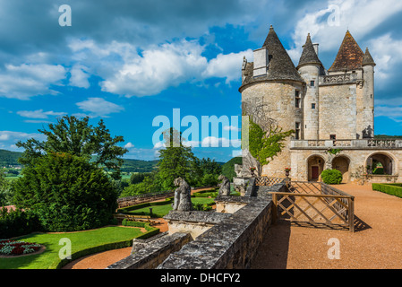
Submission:
{"label": "long pale stone balustrade above the castle's arches", "polygon": [[295,150],[328,150],[329,148],[349,150],[402,149],[402,140],[364,139],[364,140],[301,140],[291,141]]}

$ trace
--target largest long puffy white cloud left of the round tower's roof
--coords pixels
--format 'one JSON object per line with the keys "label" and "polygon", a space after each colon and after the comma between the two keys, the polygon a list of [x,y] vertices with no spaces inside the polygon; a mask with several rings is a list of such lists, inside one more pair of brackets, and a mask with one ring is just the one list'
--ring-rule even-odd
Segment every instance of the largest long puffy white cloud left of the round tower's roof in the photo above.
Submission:
{"label": "largest long puffy white cloud left of the round tower's roof", "polygon": [[138,47],[116,41],[98,45],[91,39],[73,39],[69,47],[74,61],[91,66],[81,74],[84,79],[96,74],[104,79],[99,83],[102,91],[126,97],[156,95],[181,83],[202,83],[212,77],[226,79],[230,84],[241,77],[243,57],[252,58],[252,50],[248,49],[219,54],[209,61],[202,56],[204,46],[186,39],[149,46],[141,54]]}

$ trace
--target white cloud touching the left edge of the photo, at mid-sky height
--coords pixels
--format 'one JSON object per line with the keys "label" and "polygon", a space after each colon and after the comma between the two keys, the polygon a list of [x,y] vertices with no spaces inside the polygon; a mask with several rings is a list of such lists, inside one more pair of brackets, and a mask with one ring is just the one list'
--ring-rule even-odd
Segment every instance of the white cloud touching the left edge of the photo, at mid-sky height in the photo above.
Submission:
{"label": "white cloud touching the left edge of the photo, at mid-sky height", "polygon": [[0,96],[29,100],[36,95],[55,95],[57,91],[50,86],[61,84],[65,74],[62,65],[5,65],[5,70],[0,72]]}

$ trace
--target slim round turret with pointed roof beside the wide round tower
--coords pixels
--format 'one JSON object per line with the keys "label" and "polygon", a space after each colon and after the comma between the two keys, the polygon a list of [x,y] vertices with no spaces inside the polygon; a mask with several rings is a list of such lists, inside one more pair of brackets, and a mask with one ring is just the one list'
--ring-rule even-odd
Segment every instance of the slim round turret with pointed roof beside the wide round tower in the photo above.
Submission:
{"label": "slim round turret with pointed roof beside the wide round tower", "polygon": [[312,44],[310,34],[303,46],[297,70],[306,83],[304,96],[304,139],[319,139],[319,77],[321,61],[317,55],[318,44]]}

